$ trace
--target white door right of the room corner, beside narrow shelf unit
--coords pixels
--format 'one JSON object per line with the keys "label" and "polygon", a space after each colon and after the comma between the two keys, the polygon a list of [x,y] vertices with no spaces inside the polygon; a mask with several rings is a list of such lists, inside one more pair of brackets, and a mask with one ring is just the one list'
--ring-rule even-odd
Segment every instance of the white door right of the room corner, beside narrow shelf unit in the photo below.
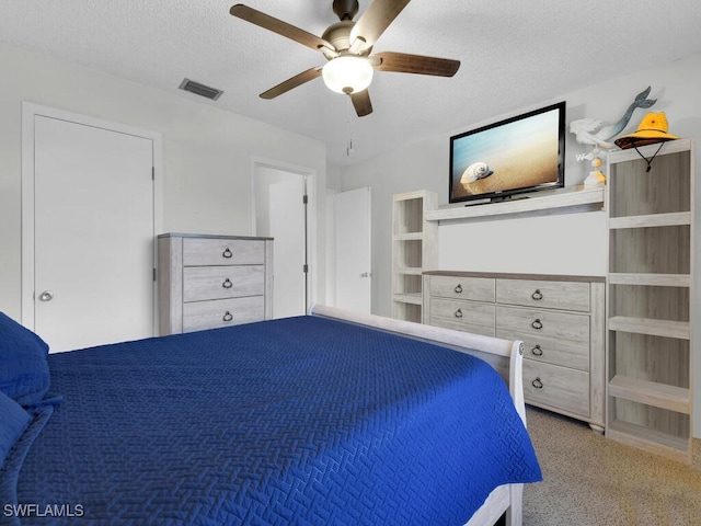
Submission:
{"label": "white door right of the room corner, beside narrow shelf unit", "polygon": [[336,307],[370,313],[370,187],[334,195]]}

